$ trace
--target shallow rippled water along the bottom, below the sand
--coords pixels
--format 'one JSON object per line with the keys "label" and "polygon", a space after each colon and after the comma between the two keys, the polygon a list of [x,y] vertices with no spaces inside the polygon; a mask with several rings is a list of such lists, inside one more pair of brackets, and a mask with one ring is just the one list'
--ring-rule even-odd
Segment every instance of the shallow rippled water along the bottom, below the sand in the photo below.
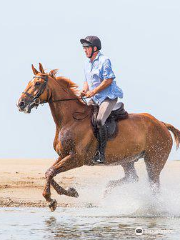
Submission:
{"label": "shallow rippled water along the bottom, below the sand", "polygon": [[[142,235],[135,229],[141,227]],[[179,217],[110,215],[105,208],[1,208],[1,240],[180,239]]]}

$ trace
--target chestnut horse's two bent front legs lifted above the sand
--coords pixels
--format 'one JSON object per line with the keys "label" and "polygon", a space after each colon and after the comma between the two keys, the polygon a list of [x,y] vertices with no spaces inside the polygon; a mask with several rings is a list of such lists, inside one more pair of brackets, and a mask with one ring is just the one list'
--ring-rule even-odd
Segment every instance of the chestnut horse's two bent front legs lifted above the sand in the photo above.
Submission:
{"label": "chestnut horse's two bent front legs lifted above the sand", "polygon": [[60,195],[64,194],[71,197],[78,197],[78,193],[74,188],[69,188],[68,190],[62,188],[55,182],[53,177],[55,177],[60,172],[65,172],[76,167],[81,167],[82,165],[83,162],[77,159],[76,154],[70,154],[63,159],[59,157],[58,160],[47,170],[45,174],[47,182],[44,188],[43,196],[45,197],[46,201],[50,202],[49,207],[52,211],[56,209],[57,202],[56,200],[51,199],[50,184]]}

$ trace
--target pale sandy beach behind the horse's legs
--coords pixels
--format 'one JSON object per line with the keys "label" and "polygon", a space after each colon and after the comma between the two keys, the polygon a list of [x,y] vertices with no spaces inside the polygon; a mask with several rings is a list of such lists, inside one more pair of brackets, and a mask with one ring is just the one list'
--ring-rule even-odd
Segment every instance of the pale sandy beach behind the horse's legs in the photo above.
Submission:
{"label": "pale sandy beach behind the horse's legs", "polygon": [[[0,159],[0,207],[46,207],[42,196],[44,173],[53,162],[53,159]],[[147,175],[143,160],[136,163],[136,169],[140,178]],[[180,161],[168,161],[162,171],[164,178],[169,172],[179,178]],[[88,204],[95,204],[94,195],[104,191],[109,180],[123,176],[121,166],[76,168],[57,175],[55,180],[64,188],[75,187],[80,197],[60,196],[51,188],[52,198],[61,207],[87,207]]]}

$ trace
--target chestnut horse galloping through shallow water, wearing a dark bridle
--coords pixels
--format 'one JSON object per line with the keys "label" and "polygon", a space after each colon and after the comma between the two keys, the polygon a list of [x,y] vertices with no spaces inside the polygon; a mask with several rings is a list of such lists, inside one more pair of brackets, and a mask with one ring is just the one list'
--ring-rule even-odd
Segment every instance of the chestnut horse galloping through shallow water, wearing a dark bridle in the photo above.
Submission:
{"label": "chestnut horse galloping through shallow water, wearing a dark bridle", "polygon": [[[33,80],[21,94],[17,106],[19,111],[30,113],[32,108],[49,103],[56,125],[53,146],[59,156],[45,173],[43,196],[51,211],[54,211],[57,201],[51,198],[51,186],[60,195],[79,196],[75,188],[64,189],[59,186],[54,177],[70,169],[92,165],[97,150],[97,139],[91,124],[92,106],[85,104],[74,82],[56,76],[57,69],[46,73],[39,63],[39,71],[33,65],[32,71]],[[108,188],[137,182],[139,178],[134,163],[144,158],[150,187],[158,192],[160,173],[173,145],[169,130],[175,137],[177,148],[180,143],[180,131],[148,113],[131,113],[117,125],[116,137],[107,142],[105,164],[121,165],[125,175],[119,180],[110,181]]]}

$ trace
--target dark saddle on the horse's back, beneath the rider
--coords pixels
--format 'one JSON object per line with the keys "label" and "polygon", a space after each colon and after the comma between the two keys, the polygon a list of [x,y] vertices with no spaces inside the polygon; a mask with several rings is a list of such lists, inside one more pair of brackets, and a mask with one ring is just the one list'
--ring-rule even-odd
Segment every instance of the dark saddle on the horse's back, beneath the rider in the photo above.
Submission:
{"label": "dark saddle on the horse's back, beneath the rider", "polygon": [[[98,105],[92,105],[92,127],[95,137],[97,138],[97,115],[99,111]],[[113,139],[118,131],[117,122],[128,118],[128,113],[124,109],[124,103],[118,102],[116,103],[115,107],[113,108],[111,114],[107,118],[105,122],[105,127],[107,131],[107,140]]]}

